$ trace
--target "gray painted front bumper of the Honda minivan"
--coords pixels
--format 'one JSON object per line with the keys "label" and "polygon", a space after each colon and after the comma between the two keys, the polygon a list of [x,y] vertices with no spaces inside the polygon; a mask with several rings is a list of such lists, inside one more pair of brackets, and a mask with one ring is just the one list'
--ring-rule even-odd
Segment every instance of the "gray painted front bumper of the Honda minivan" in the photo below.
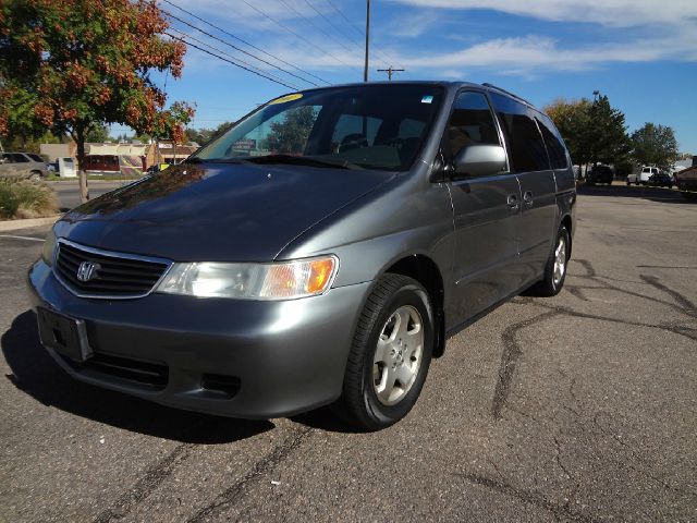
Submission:
{"label": "gray painted front bumper of the Honda minivan", "polygon": [[249,418],[288,416],[339,398],[370,285],[284,302],[157,293],[89,300],[66,290],[42,260],[29,269],[27,283],[35,307],[85,320],[91,358],[75,363],[47,348],[76,379],[170,406]]}

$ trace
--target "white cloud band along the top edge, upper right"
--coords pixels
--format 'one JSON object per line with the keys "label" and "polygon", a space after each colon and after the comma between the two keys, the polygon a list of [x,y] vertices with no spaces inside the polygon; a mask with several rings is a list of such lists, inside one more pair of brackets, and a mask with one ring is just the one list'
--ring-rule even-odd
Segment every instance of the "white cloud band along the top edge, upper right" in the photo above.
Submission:
{"label": "white cloud band along the top edge, upper right", "polygon": [[594,22],[629,27],[677,24],[697,17],[695,0],[392,0],[432,9],[491,9],[509,14],[555,22]]}

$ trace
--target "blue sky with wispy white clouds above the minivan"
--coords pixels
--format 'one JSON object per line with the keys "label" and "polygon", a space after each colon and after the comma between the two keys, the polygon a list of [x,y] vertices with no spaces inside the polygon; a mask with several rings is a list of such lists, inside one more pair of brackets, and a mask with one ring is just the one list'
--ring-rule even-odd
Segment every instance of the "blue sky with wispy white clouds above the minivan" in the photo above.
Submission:
{"label": "blue sky with wispy white clouds above the minivan", "polygon": [[[186,35],[192,45],[244,60],[257,73],[286,84],[189,46],[181,78],[152,77],[166,88],[168,102],[196,105],[194,127],[234,121],[259,104],[313,83],[363,81],[365,0],[158,4],[173,15],[172,35]],[[490,82],[537,107],[558,98],[592,99],[599,90],[624,112],[629,133],[646,122],[670,125],[680,150],[697,155],[697,0],[370,4],[370,80],[387,80],[376,70],[391,65],[405,70],[394,73],[394,80]],[[114,135],[123,131],[112,127]]]}

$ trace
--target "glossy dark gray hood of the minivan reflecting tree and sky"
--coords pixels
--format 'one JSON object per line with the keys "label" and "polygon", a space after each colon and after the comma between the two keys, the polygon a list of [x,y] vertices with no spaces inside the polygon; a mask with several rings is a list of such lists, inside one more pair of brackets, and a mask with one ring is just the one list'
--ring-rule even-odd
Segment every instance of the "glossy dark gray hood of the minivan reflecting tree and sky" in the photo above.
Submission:
{"label": "glossy dark gray hood of the minivan reflecting tree and sky", "polygon": [[59,236],[180,262],[266,262],[393,173],[304,166],[182,165],[64,215]]}

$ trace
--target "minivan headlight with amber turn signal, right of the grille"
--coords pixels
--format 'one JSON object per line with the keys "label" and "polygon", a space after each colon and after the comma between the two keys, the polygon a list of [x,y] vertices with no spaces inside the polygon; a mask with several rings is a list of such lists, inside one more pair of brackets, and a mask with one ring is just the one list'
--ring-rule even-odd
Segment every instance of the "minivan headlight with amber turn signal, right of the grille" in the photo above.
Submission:
{"label": "minivan headlight with amber turn signal, right of the grille", "polygon": [[326,292],[338,268],[335,256],[276,264],[174,264],[157,292],[199,297],[293,300]]}

